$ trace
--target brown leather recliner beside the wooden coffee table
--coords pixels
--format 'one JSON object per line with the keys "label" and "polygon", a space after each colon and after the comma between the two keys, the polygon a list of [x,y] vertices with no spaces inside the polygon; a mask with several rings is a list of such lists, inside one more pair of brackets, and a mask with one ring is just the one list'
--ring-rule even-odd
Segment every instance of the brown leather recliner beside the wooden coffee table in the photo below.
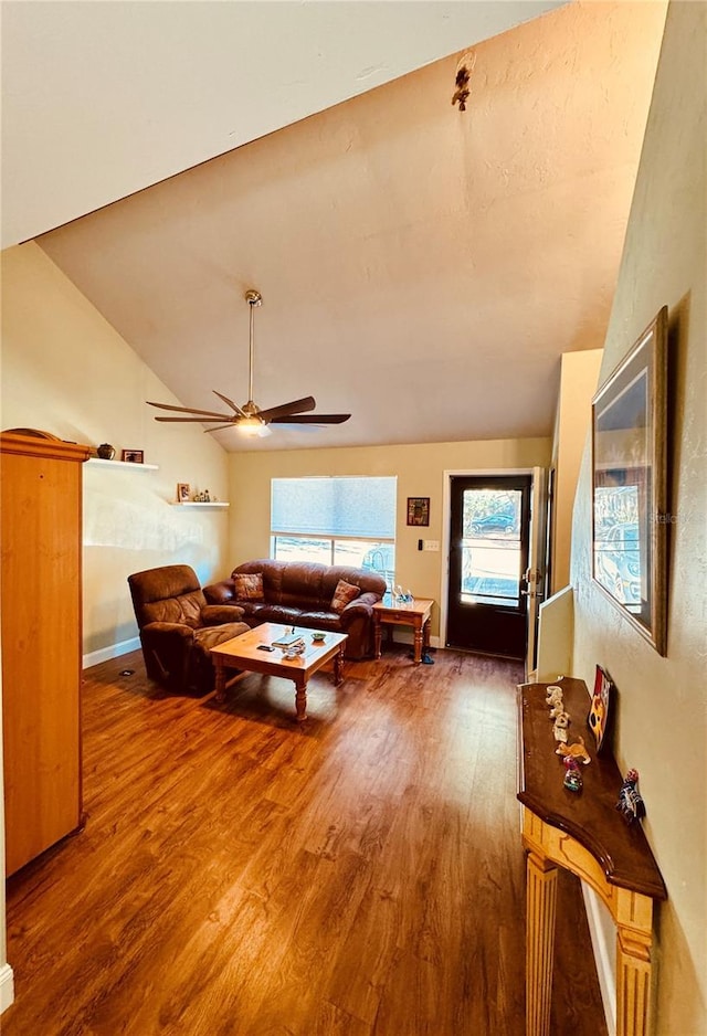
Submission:
{"label": "brown leather recliner beside the wooden coffee table", "polygon": [[128,575],[147,675],[170,690],[213,690],[211,648],[247,633],[238,605],[208,604],[188,564]]}

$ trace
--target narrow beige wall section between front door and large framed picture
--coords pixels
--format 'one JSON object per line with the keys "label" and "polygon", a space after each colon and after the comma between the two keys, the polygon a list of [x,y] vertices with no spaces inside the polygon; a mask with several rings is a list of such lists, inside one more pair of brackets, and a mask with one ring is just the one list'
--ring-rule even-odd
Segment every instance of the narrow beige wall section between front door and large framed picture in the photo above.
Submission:
{"label": "narrow beige wall section between front door and large framed picture", "polygon": [[562,356],[560,395],[553,443],[552,593],[570,581],[572,507],[582,453],[591,424],[591,400],[597,391],[602,350]]}

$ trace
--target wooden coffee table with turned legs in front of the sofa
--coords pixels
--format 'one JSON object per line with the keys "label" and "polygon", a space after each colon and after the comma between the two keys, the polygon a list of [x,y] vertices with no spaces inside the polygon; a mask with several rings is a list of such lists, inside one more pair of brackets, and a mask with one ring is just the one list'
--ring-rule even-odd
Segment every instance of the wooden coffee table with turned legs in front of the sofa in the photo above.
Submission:
{"label": "wooden coffee table with turned legs in front of the sofa", "polygon": [[258,647],[260,644],[272,644],[291,630],[292,626],[265,622],[241,636],[233,637],[232,641],[212,647],[211,658],[217,670],[217,701],[225,699],[226,669],[282,676],[286,680],[293,680],[295,685],[297,722],[304,722],[307,718],[307,681],[312,674],[333,658],[335,685],[338,687],[344,679],[344,645],[348,634],[327,633],[321,643],[315,644],[312,630],[295,627],[295,632],[302,635],[307,645],[304,654],[297,655],[296,658],[285,658],[279,647],[272,652]]}

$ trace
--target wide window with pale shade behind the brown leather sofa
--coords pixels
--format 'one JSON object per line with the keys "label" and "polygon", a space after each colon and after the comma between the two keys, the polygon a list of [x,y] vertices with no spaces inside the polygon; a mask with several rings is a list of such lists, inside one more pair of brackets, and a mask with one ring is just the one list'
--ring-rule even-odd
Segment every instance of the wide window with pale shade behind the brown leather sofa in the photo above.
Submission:
{"label": "wide window with pale shade behind the brown leather sofa", "polygon": [[271,557],[395,573],[394,476],[273,478]]}

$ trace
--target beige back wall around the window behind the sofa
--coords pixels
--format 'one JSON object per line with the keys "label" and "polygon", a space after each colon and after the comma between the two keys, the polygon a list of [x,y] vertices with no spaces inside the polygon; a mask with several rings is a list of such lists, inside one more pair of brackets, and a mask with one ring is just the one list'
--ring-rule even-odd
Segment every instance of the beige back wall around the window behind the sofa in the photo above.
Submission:
{"label": "beige back wall around the window behind the sofa", "polygon": [[[495,440],[474,443],[368,446],[341,450],[296,450],[231,455],[231,569],[270,553],[270,485],[272,478],[305,475],[397,475],[398,521],[395,579],[418,596],[439,605],[442,553],[419,551],[418,540],[443,539],[442,493],[445,471],[547,467],[549,438]],[[405,524],[410,496],[430,497],[430,526]],[[432,620],[439,633],[439,606]]]}

